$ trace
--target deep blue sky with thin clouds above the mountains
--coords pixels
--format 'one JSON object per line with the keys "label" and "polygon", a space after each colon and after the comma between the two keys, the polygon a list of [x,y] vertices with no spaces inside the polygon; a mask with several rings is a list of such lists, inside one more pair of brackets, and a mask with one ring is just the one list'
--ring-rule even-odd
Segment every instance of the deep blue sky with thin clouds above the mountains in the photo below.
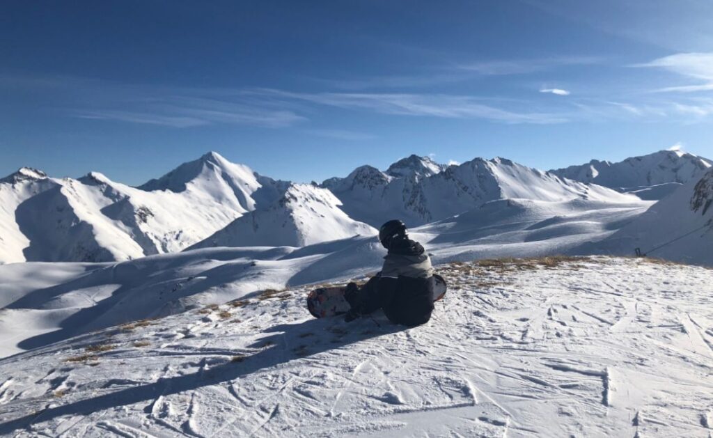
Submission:
{"label": "deep blue sky with thin clouds above the mountains", "polygon": [[0,59],[0,175],[713,158],[708,0],[9,0]]}

